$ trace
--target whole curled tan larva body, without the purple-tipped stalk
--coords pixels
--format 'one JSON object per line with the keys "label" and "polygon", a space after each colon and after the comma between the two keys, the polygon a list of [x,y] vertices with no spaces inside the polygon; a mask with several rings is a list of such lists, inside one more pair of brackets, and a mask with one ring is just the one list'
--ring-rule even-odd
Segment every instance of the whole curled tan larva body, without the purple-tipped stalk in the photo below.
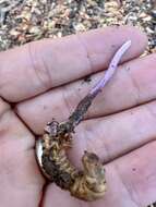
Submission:
{"label": "whole curled tan larva body, without the purple-tipped stalk", "polygon": [[95,154],[85,151],[82,158],[83,171],[79,171],[67,157],[71,146],[71,134],[51,136],[46,132],[40,138],[43,153],[40,166],[44,174],[74,197],[94,200],[106,192],[105,169]]}

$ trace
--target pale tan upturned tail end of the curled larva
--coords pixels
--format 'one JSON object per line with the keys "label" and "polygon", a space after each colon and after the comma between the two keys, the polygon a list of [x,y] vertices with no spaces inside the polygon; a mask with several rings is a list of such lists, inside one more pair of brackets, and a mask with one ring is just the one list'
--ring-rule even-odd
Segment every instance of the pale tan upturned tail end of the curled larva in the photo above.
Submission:
{"label": "pale tan upturned tail end of the curled larva", "polygon": [[71,195],[84,200],[98,199],[106,193],[104,166],[93,153],[85,151],[82,161],[84,171],[71,186]]}

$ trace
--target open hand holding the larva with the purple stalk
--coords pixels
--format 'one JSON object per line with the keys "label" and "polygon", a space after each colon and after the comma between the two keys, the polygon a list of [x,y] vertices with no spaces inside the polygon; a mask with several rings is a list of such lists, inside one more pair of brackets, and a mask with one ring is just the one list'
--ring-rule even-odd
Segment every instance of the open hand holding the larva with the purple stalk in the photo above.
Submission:
{"label": "open hand holding the larva with the purple stalk", "polygon": [[[105,197],[85,203],[46,183],[35,138],[52,118],[69,117],[128,39],[124,63],[77,126],[69,155],[77,167],[85,149],[106,163]],[[139,58],[146,42],[136,28],[108,27],[0,53],[1,206],[141,207],[156,200],[156,54]]]}

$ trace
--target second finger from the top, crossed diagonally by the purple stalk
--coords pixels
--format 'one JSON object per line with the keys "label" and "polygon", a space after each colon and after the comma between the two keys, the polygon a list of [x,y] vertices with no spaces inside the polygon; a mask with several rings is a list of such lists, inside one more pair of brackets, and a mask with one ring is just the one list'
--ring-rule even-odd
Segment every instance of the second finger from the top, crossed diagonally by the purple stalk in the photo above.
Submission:
{"label": "second finger from the top, crossed diagonally by the purple stalk", "polygon": [[[101,75],[104,74],[93,75],[89,84],[77,81],[19,104],[17,113],[35,133],[41,133],[46,123],[52,118],[58,121],[67,119]],[[113,80],[94,100],[86,118],[119,112],[154,100],[156,98],[155,77],[155,54],[121,65]]]}

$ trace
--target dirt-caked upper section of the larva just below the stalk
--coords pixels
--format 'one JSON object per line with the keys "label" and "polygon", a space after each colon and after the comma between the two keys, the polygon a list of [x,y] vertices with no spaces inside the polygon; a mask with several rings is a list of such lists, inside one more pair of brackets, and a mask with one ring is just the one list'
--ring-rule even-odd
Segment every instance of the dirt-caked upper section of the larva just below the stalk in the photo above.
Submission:
{"label": "dirt-caked upper section of the larva just below the stalk", "polygon": [[43,137],[43,168],[48,179],[57,183],[61,188],[68,190],[77,174],[76,169],[67,157],[65,146],[60,137],[50,137],[45,134]]}

